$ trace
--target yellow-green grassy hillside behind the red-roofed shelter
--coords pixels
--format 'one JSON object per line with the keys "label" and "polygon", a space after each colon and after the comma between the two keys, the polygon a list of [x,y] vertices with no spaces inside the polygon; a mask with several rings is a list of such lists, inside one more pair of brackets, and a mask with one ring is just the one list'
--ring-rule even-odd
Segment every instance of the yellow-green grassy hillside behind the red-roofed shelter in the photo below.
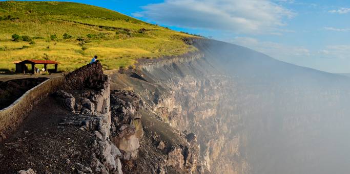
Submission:
{"label": "yellow-green grassy hillside behind the red-roofed shelter", "polygon": [[[18,19],[0,20],[0,69],[14,69],[12,62],[16,60],[49,59],[61,63],[59,70],[73,70],[94,55],[99,56],[105,69],[115,69],[132,65],[142,57],[180,55],[196,49],[182,41],[193,36],[84,4],[0,2],[0,17],[8,15]],[[139,33],[140,29],[147,31]],[[63,39],[64,33],[73,38]],[[35,44],[15,42],[11,41],[12,34],[39,38],[34,39]],[[58,40],[50,39],[53,34]],[[88,38],[88,34],[94,37]],[[76,37],[90,42],[81,46]]]}

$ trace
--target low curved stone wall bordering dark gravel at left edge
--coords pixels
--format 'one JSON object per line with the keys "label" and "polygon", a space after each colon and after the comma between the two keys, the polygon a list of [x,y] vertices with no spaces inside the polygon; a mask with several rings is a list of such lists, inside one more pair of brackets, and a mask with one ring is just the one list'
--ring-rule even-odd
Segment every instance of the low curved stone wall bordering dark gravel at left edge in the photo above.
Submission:
{"label": "low curved stone wall bordering dark gravel at left edge", "polygon": [[65,77],[48,79],[28,90],[9,107],[0,110],[0,142],[17,129],[36,104],[64,82]]}

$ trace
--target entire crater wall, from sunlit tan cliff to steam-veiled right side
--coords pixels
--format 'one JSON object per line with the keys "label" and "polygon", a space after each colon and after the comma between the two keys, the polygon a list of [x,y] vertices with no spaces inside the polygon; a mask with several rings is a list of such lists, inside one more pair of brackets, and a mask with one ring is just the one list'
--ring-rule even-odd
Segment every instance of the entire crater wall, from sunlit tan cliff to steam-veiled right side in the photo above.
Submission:
{"label": "entire crater wall, from sunlit tan cliff to steam-veiled right side", "polygon": [[[136,70],[112,74],[111,88],[132,88],[158,120],[193,132],[196,172],[348,171],[340,155],[350,145],[348,78],[237,45],[188,42],[199,52],[140,61]],[[338,159],[339,167],[323,156]]]}

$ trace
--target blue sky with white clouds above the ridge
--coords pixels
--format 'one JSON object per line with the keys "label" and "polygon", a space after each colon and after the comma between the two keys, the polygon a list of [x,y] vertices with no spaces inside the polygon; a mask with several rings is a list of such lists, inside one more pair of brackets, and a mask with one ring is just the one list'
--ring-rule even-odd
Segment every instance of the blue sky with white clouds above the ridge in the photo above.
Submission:
{"label": "blue sky with white clouds above the ridge", "polygon": [[350,73],[350,1],[80,1],[254,49],[275,59]]}

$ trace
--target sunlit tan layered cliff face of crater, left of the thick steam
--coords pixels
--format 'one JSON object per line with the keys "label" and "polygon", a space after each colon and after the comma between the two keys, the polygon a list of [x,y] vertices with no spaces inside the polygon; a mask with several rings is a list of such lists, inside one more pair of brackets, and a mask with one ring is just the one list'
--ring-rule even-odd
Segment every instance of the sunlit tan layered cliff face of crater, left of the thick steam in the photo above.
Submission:
{"label": "sunlit tan layered cliff face of crater, left of the thick steam", "polygon": [[194,172],[247,173],[249,164],[240,137],[241,119],[234,113],[235,84],[200,53],[143,62],[132,73],[113,74],[113,84],[133,87],[162,122],[179,132],[193,132],[199,159]]}

